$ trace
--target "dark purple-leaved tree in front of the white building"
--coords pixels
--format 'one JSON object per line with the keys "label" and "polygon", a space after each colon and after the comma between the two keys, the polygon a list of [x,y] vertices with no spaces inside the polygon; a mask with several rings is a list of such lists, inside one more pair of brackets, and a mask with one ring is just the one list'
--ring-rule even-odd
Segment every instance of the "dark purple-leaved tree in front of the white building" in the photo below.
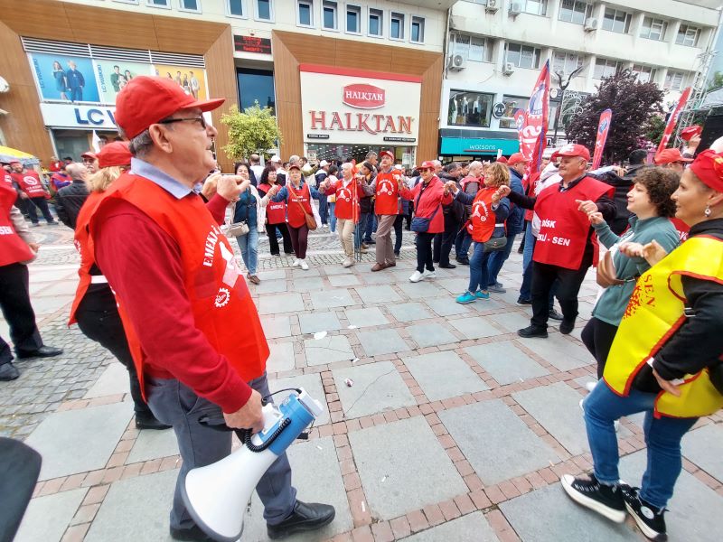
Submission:
{"label": "dark purple-leaved tree in front of the white building", "polygon": [[603,163],[622,162],[645,135],[646,126],[653,115],[661,115],[663,92],[653,82],[641,83],[630,70],[622,70],[603,78],[597,92],[588,96],[581,112],[570,120],[568,139],[595,147],[597,123],[607,108],[613,110],[610,131],[603,152]]}

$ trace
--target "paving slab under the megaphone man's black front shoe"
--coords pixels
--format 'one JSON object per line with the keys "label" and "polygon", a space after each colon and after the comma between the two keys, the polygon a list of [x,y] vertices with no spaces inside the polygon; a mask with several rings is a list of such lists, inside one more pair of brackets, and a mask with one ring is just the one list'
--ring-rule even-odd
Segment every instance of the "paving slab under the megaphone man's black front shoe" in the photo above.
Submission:
{"label": "paving slab under the megaphone man's black front shoe", "polygon": [[[311,442],[297,443],[288,449],[294,487],[298,498],[306,502],[325,502],[336,509],[336,517],[328,526],[307,533],[284,538],[289,542],[316,542],[351,530],[354,525],[346,500],[342,472],[336,458],[333,438],[326,437]],[[251,497],[251,511],[244,521],[241,540],[266,542],[266,521],[263,507],[256,491]]]}

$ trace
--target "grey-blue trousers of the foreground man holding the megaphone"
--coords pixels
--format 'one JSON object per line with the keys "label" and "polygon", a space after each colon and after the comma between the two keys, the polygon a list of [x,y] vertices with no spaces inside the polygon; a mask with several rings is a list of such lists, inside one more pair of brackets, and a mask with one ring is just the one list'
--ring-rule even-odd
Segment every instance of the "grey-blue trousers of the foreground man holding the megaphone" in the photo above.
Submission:
{"label": "grey-blue trousers of the foreground man holding the megaphone", "polygon": [[[256,389],[261,397],[269,394],[266,373],[251,380],[249,386]],[[166,425],[173,425],[183,459],[175,485],[171,527],[192,528],[194,523],[181,495],[183,481],[191,469],[215,463],[229,455],[232,434],[199,424],[199,418],[208,416],[211,424],[222,425],[221,408],[197,396],[191,388],[174,378],[146,377],[146,394],[155,417]],[[296,504],[296,490],[291,485],[291,466],[286,453],[279,455],[277,461],[268,467],[258,481],[256,492],[264,503],[264,519],[269,524],[281,523],[291,514]],[[239,510],[239,514],[243,512]]]}

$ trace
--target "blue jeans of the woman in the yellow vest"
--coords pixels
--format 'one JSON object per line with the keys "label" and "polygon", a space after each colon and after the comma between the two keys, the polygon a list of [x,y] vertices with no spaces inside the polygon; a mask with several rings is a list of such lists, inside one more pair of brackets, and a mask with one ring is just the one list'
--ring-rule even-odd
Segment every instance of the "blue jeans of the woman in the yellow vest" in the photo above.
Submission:
{"label": "blue jeans of the woman in the yellow vest", "polygon": [[664,508],[672,497],[675,481],[681,473],[681,439],[698,418],[653,416],[656,395],[633,389],[628,397],[620,397],[598,382],[585,398],[587,442],[593,454],[597,480],[614,484],[620,480],[617,464],[617,435],[613,422],[621,416],[645,413],[643,432],[648,446],[648,464],[643,474],[640,496],[656,508]]}

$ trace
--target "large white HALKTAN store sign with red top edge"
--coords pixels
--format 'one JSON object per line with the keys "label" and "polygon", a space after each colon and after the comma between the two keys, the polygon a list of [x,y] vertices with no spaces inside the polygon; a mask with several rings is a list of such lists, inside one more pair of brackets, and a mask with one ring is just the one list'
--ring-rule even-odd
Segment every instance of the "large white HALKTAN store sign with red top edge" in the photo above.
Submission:
{"label": "large white HALKTAN store sign with red top edge", "polygon": [[299,70],[306,142],[416,145],[420,77],[312,64]]}

